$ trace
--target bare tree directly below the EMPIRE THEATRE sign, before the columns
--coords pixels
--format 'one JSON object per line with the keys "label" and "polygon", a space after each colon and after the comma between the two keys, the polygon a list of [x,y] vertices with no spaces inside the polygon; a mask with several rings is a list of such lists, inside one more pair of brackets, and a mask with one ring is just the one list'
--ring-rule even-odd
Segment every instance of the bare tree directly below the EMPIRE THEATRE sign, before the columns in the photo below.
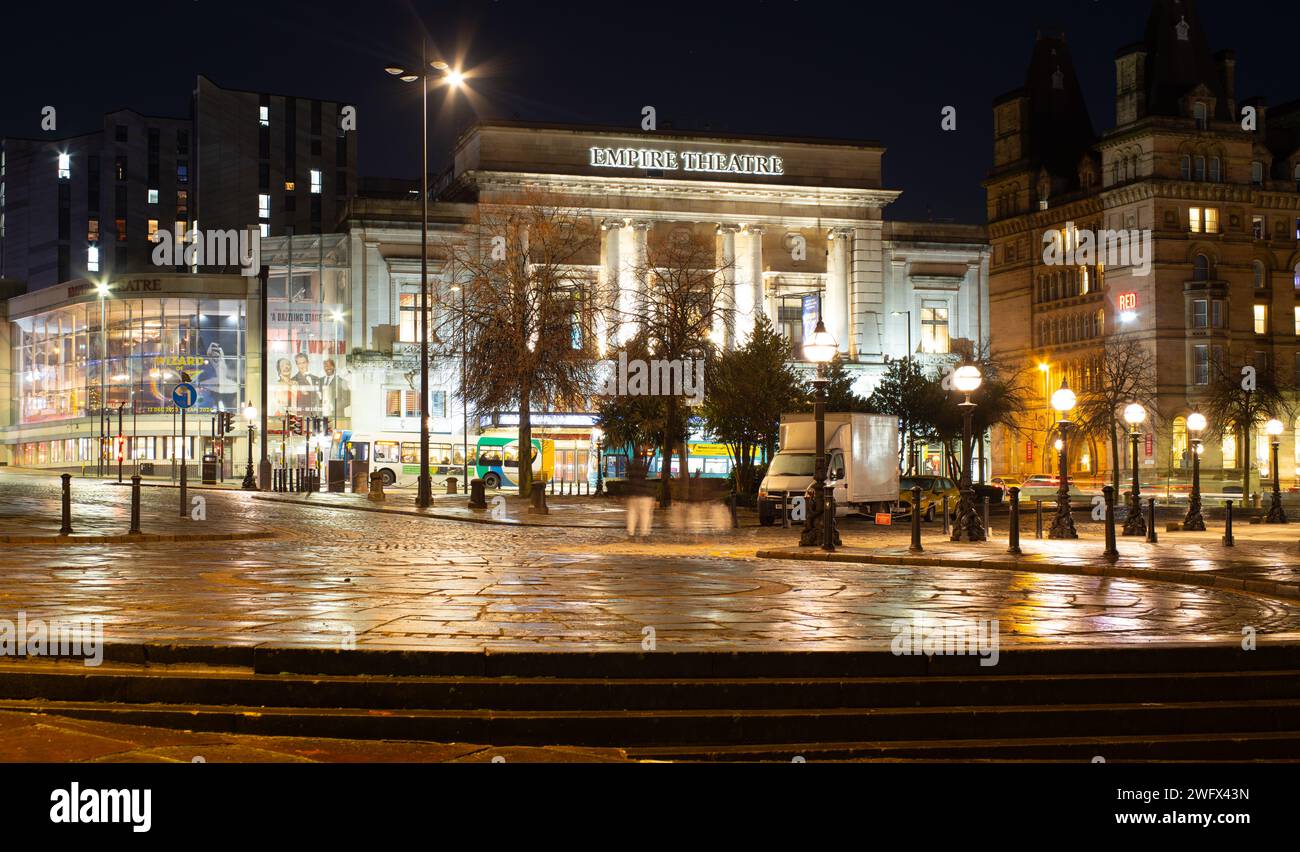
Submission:
{"label": "bare tree directly below the EMPIRE THEATRE sign, before the columns", "polygon": [[[638,293],[630,306],[615,311],[629,336],[662,362],[703,359],[706,350],[720,346],[733,333],[731,285],[725,272],[731,261],[722,261],[716,237],[677,228],[668,233],[651,232],[644,260],[633,264],[632,273]],[[671,373],[670,373],[671,375]],[[685,432],[680,385],[664,393],[666,427],[663,434]],[[662,449],[659,505],[668,506],[671,496],[672,440]],[[680,475],[685,481],[685,441],[677,442]]]}

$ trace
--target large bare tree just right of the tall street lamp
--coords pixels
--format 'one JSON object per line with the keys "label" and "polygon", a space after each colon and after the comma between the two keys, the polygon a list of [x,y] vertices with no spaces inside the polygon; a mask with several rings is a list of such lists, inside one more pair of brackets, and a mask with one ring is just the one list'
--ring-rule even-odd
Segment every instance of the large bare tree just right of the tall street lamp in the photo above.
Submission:
{"label": "large bare tree just right of the tall street lamp", "polygon": [[588,211],[540,196],[480,204],[452,261],[462,298],[445,303],[448,339],[463,333],[460,397],[476,411],[519,411],[519,493],[532,485],[532,411],[580,407],[594,390],[601,313],[588,264],[598,251]]}

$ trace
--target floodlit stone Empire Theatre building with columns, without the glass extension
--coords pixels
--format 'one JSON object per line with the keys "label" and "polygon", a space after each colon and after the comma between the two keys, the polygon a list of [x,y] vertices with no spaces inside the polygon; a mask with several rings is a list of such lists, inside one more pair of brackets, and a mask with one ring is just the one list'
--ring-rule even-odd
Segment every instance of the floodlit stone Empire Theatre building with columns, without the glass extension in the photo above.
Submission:
{"label": "floodlit stone Empire Theatre building with columns, without the glass extension", "polygon": [[[575,258],[576,276],[599,291],[634,299],[645,286],[637,271],[645,269],[647,246],[675,232],[702,234],[714,241],[733,295],[727,346],[744,343],[763,312],[798,362],[805,323],[810,312],[815,323],[820,307],[858,373],[855,389],[870,393],[887,358],[905,356],[910,346],[942,359],[961,338],[982,341],[987,329],[983,229],[885,221],[884,208],[900,193],[883,187],[883,156],[880,144],[862,140],[480,124],[458,140],[438,202],[429,207],[430,310],[438,313],[456,297],[454,259],[469,239],[476,207],[555,199],[599,224],[598,245]],[[352,276],[344,376],[351,416],[344,423],[358,440],[385,436],[382,453],[413,463],[419,195],[363,187],[343,230]],[[445,320],[432,316],[430,328],[446,328]],[[467,416],[460,410],[455,343],[432,343],[429,424],[434,463],[459,468],[465,451],[476,458],[476,442],[485,437],[517,437],[517,414]],[[593,412],[537,411],[532,423],[534,438],[554,440],[558,481],[594,480]],[[381,454],[377,442],[374,453]],[[693,466],[711,463],[701,455],[692,454]]]}

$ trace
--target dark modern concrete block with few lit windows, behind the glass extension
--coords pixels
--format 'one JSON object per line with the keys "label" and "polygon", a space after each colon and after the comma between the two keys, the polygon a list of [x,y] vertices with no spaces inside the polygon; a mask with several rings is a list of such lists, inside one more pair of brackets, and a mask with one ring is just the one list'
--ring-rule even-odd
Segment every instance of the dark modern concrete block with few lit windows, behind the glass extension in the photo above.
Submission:
{"label": "dark modern concrete block with few lit windows, behind the glass extension", "polygon": [[160,230],[330,232],[356,187],[343,109],[200,75],[188,117],[120,109],[91,134],[0,139],[0,277],[38,290],[157,272]]}

